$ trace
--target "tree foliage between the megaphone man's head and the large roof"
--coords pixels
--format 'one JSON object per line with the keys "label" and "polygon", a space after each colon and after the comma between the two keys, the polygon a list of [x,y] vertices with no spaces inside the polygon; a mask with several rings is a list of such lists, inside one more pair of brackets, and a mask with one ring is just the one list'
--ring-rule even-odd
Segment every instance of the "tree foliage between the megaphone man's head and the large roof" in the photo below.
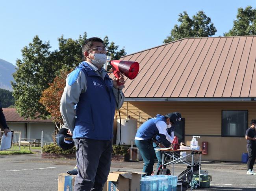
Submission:
{"label": "tree foliage between the megaphone man's head and the large roof", "polygon": [[107,55],[111,56],[112,60],[119,60],[121,56],[126,55],[124,47],[121,50],[117,51],[119,46],[115,45],[114,42],[109,43],[108,36],[104,38],[103,42],[104,46],[108,47]]}

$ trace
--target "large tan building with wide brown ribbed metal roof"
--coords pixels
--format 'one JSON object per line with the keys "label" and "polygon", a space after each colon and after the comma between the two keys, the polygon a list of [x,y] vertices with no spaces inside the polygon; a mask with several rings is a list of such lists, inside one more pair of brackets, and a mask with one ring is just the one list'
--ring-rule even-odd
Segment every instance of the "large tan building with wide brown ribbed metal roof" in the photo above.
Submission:
{"label": "large tan building with wide brown ribbed metal roof", "polygon": [[[182,113],[180,141],[208,142],[203,160],[241,161],[245,131],[256,119],[256,36],[185,38],[126,55],[138,76],[126,80],[121,118],[139,124],[156,114]],[[113,74],[110,74],[113,77]],[[141,119],[141,120],[140,120]]]}

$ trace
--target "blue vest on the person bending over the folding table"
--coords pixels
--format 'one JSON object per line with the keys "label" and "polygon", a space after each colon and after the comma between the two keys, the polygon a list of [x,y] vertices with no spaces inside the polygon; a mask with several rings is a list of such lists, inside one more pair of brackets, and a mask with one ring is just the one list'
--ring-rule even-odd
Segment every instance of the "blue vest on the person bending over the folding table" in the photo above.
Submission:
{"label": "blue vest on the person bending over the folding table", "polygon": [[159,134],[158,128],[156,127],[156,122],[163,121],[166,122],[165,117],[163,115],[156,115],[156,117],[149,119],[144,122],[137,130],[135,137],[143,138],[143,139],[152,139]]}

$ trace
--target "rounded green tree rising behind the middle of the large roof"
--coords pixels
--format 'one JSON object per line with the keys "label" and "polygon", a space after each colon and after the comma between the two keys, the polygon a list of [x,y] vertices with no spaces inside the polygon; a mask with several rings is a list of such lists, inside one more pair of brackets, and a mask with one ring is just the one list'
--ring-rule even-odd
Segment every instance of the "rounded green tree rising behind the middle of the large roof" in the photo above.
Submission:
{"label": "rounded green tree rising behind the middle of the large roof", "polygon": [[187,37],[210,37],[217,32],[210,17],[207,17],[204,11],[198,11],[196,15],[193,15],[192,19],[184,11],[183,14],[179,14],[178,22],[180,22],[180,25],[174,25],[171,35],[167,36],[163,43],[169,43]]}

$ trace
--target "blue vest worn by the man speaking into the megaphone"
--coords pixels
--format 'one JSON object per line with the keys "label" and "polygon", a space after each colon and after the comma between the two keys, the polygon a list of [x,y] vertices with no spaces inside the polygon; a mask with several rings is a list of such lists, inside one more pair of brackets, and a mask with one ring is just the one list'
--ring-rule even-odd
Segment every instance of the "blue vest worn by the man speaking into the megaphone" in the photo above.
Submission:
{"label": "blue vest worn by the man speaking into the megaphone", "polygon": [[112,80],[108,74],[103,80],[86,62],[82,62],[76,70],[84,72],[87,90],[81,93],[75,108],[73,139],[111,140],[116,106]]}

